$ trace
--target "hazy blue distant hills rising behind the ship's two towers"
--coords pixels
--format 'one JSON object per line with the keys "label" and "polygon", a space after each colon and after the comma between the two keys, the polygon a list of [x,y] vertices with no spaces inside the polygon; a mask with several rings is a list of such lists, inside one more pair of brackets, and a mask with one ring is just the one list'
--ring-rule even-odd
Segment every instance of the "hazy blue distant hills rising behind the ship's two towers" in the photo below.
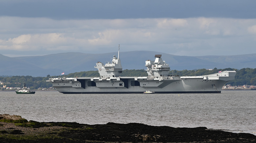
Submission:
{"label": "hazy blue distant hills rising behind the ship's two towers", "polygon": [[[169,64],[171,70],[256,68],[256,54],[235,56],[175,56],[153,51],[120,52],[123,70],[146,69],[145,61],[156,54]],[[95,71],[96,62],[111,61],[118,52],[105,54],[60,53],[45,56],[8,57],[0,54],[0,75],[47,76]]]}

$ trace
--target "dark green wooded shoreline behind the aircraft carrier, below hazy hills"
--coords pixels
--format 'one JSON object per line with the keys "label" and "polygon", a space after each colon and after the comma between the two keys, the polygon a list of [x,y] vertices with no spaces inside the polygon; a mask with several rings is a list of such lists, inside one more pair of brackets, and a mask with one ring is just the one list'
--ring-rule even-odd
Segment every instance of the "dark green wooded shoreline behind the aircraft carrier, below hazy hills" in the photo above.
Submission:
{"label": "dark green wooded shoreline behind the aircraft carrier, below hazy hills", "polygon": [[[217,69],[214,68],[213,70],[206,70],[206,69],[199,69],[199,70],[171,70],[169,75],[179,75],[179,76],[201,76],[207,74],[218,73],[219,71],[236,71],[235,79],[228,82],[232,86],[242,86],[242,85],[253,85],[256,86],[256,68],[243,68],[240,70],[237,69]],[[145,70],[123,70],[122,76],[147,76],[147,72]],[[63,75],[59,76],[50,76],[47,75],[46,77],[32,77],[32,76],[0,76],[1,87],[23,87],[24,83],[26,83],[27,87],[30,89],[37,89],[37,88],[49,88],[52,87],[51,82],[46,82],[51,77],[64,77]],[[98,71],[81,71],[70,73],[65,75],[65,77],[99,77]]]}

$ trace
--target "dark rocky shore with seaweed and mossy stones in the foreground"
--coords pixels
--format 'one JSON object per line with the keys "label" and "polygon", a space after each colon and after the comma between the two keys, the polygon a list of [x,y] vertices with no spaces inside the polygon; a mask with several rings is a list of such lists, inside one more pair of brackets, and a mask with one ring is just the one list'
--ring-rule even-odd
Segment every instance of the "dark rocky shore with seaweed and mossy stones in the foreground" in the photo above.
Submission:
{"label": "dark rocky shore with seaweed and mossy stones in the foreground", "polygon": [[248,133],[208,130],[206,127],[173,128],[140,123],[79,124],[27,121],[0,114],[0,142],[256,142]]}

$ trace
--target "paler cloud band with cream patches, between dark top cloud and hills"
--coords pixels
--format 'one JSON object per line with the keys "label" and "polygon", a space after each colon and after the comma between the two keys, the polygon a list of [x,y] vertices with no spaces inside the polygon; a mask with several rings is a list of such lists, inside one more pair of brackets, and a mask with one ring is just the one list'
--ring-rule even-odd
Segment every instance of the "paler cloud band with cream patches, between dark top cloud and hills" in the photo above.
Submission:
{"label": "paler cloud band with cream patches, between dark top cloud and hills", "polygon": [[[122,51],[149,50],[182,56],[256,53],[256,19],[0,20],[5,21],[0,24],[0,49],[7,56],[107,53],[115,51],[118,44]],[[19,22],[8,25],[12,21]]]}

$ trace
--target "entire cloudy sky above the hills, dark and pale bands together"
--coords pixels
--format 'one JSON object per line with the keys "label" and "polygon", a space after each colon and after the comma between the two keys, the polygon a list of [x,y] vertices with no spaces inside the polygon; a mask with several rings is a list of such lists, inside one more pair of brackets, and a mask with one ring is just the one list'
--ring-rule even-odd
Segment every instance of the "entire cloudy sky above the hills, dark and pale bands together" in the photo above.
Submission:
{"label": "entire cloudy sky above the hills, dark and pale bands together", "polygon": [[255,0],[1,0],[0,54],[256,53]]}

